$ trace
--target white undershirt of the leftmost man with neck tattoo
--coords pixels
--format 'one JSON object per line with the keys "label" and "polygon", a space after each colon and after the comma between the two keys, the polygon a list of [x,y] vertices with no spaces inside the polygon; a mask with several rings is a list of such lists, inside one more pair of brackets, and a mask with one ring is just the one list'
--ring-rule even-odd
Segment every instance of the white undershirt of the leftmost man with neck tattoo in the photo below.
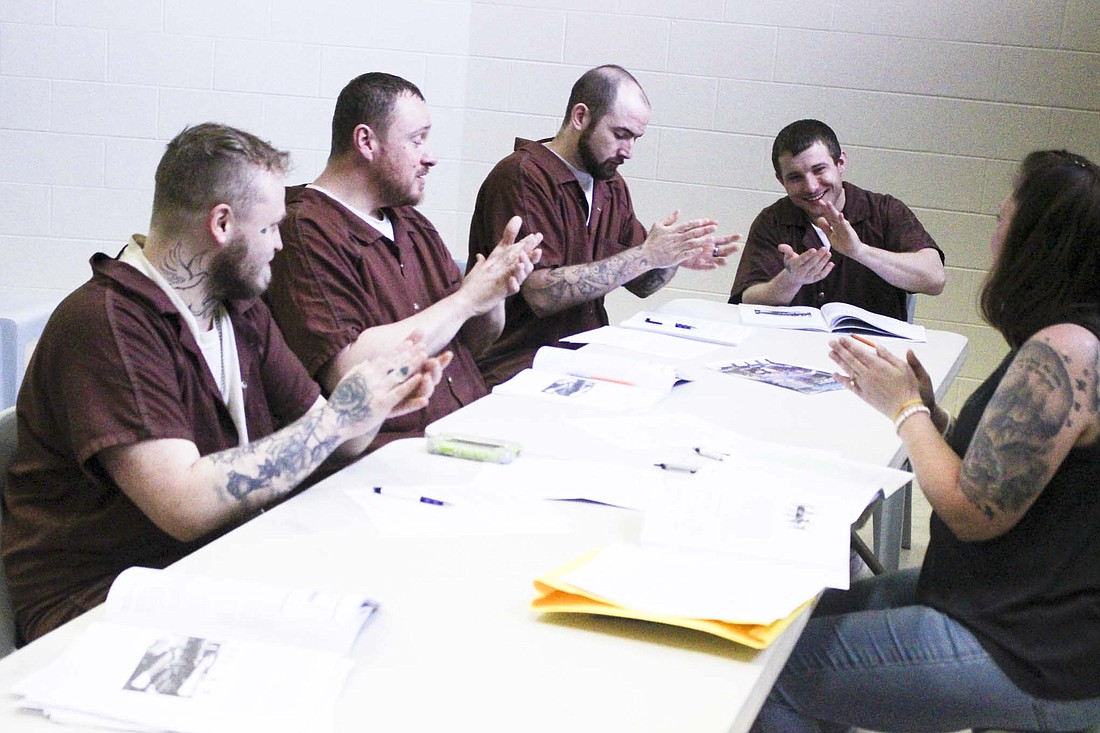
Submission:
{"label": "white undershirt of the leftmost man with neck tattoo", "polygon": [[[142,251],[143,243],[144,238],[134,234],[130,243],[127,244],[127,248],[122,250],[119,261],[125,262],[156,283],[157,287],[164,291],[164,294],[172,300],[172,305],[176,306],[180,318],[184,319],[187,328],[190,329],[191,335],[195,337],[195,342],[198,343],[199,350],[202,352],[202,358],[210,370],[210,374],[213,376],[215,383],[221,391],[221,398],[226,407],[229,408],[229,414],[233,418],[233,425],[237,427],[240,445],[248,445],[249,427],[248,422],[244,419],[244,384],[241,381],[241,361],[237,351],[237,338],[233,335],[233,321],[229,319],[226,308],[219,307],[215,311],[217,325],[205,331],[200,330],[195,315],[187,307],[187,304],[184,303],[184,299],[179,297],[176,288],[169,285],[168,281],[153,266],[153,263],[145,258],[145,253]],[[218,335],[218,325],[221,326],[220,338]],[[224,384],[222,384],[221,378],[222,359],[224,359],[226,364]]]}

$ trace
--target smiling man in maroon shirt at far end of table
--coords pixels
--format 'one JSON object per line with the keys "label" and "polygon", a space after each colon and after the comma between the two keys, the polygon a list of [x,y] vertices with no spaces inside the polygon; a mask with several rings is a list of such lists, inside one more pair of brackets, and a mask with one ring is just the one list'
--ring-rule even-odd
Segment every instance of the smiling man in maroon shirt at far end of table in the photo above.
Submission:
{"label": "smiling man in maroon shirt at far end of table", "polygon": [[900,200],[844,180],[848,155],[827,124],[787,125],[771,162],[787,196],[752,222],[730,303],[839,300],[904,320],[908,294],[943,292],[943,252]]}

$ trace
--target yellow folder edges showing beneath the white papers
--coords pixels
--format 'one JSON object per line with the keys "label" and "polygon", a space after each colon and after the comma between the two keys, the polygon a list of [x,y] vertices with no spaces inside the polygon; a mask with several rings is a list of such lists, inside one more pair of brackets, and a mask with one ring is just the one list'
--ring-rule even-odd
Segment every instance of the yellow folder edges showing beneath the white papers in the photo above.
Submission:
{"label": "yellow folder edges showing beneath the white papers", "polygon": [[595,613],[605,616],[653,621],[661,624],[694,628],[754,649],[762,649],[776,641],[783,633],[783,630],[813,603],[813,599],[809,599],[790,615],[770,624],[738,624],[714,619],[689,619],[623,606],[562,580],[563,576],[588,562],[598,551],[594,550],[583,555],[537,578],[535,580],[535,589],[538,592],[538,597],[531,601],[531,608],[543,613]]}

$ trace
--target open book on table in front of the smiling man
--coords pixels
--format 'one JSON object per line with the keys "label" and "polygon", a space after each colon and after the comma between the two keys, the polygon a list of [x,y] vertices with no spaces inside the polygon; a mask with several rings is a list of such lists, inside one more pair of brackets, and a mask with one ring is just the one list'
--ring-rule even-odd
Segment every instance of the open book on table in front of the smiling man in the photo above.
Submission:
{"label": "open book on table in front of the smiling man", "polygon": [[924,326],[908,324],[847,303],[826,303],[820,309],[813,306],[763,306],[741,303],[738,308],[741,322],[746,326],[894,336],[910,341],[927,340]]}

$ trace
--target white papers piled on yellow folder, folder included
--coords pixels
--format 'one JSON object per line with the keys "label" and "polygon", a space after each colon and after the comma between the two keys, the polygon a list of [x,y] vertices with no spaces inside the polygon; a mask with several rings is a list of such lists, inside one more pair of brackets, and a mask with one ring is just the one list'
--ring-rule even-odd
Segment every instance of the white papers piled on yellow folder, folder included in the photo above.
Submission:
{"label": "white papers piled on yellow folder, folder included", "polygon": [[[718,455],[718,453],[715,453]],[[848,587],[850,526],[912,478],[817,451],[727,446],[668,481],[637,545],[535,581],[532,608],[656,621],[762,648],[826,587]]]}

